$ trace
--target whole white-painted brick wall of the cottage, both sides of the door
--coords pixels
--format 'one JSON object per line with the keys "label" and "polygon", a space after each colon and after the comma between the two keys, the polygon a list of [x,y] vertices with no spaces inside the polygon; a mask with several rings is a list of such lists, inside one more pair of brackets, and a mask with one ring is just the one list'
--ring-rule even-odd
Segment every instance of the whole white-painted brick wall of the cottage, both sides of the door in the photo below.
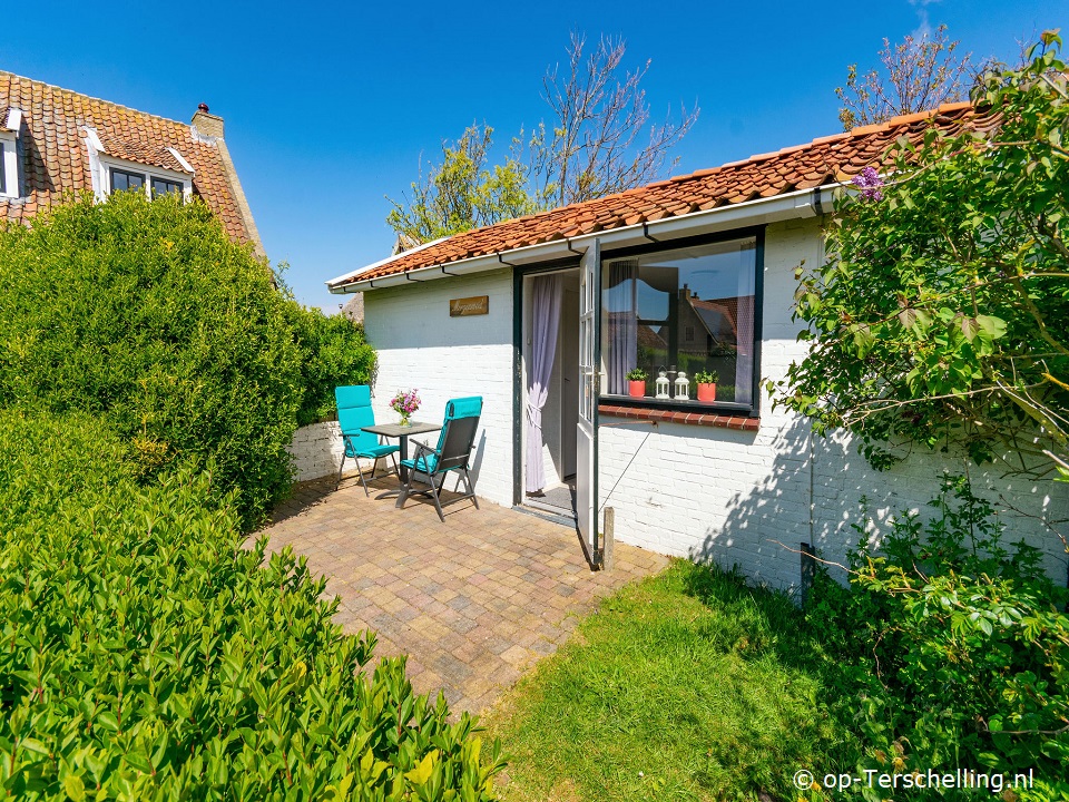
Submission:
{"label": "whole white-painted brick wall of the cottage, both sides of the door", "polygon": [[[784,376],[804,354],[791,321],[794,270],[821,260],[815,222],[769,226],[765,241],[762,373]],[[450,317],[449,299],[490,296],[490,314]],[[375,290],[365,295],[366,332],[379,350],[375,414],[396,420],[386,407],[398,390],[419,388],[418,418],[441,421],[445,401],[482,395],[482,423],[474,460],[481,497],[512,503],[512,280],[508,271],[444,278],[419,287]],[[800,578],[796,549],[814,544],[840,560],[854,542],[850,522],[860,499],[872,499],[879,537],[893,511],[926,512],[939,470],[963,462],[914,454],[886,473],[869,468],[845,438],[810,437],[808,423],[771,409],[763,393],[757,432],[710,427],[648,424],[604,419],[600,437],[600,493],[616,509],[616,534],[629,542],[671,555],[709,557],[738,565],[747,575],[791,588]],[[430,436],[433,438],[434,436]],[[811,459],[812,452],[812,459]],[[1014,507],[1052,518],[1069,517],[1069,486],[1022,485],[972,470],[988,496],[1002,493]],[[608,498],[606,498],[608,496]],[[813,515],[811,519],[811,499]],[[1060,542],[1041,522],[1000,503],[1011,539],[1024,537],[1047,551],[1056,579],[1066,576]]]}

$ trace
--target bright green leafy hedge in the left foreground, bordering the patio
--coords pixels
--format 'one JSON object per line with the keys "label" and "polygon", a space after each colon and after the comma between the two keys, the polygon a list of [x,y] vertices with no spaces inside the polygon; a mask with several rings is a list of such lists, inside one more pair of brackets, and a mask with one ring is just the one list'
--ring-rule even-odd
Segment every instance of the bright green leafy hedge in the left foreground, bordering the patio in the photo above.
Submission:
{"label": "bright green leafy hedge in the left foreground, bordering the patio", "polygon": [[473,722],[361,673],[287,550],[210,471],[135,481],[88,415],[0,414],[0,784],[27,800],[486,800]]}

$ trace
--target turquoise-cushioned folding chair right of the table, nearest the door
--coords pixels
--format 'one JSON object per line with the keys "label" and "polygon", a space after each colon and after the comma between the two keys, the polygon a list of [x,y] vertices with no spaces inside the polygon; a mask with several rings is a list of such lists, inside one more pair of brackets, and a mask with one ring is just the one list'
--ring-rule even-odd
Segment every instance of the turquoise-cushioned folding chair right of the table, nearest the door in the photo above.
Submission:
{"label": "turquoise-cushioned folding chair right of the table, nearest the door", "polygon": [[[438,517],[444,521],[445,516],[442,514],[442,500],[439,493],[445,482],[445,476],[450,471],[457,471],[458,476],[463,476],[468,492],[445,503],[451,505],[470,498],[475,509],[479,509],[468,460],[475,442],[475,430],[479,428],[481,414],[482,398],[479,395],[453,399],[445,404],[445,423],[438,438],[438,448],[432,449],[430,446],[416,442],[415,456],[412,459],[401,460],[401,464],[408,469],[409,478],[401,488],[398,507],[403,508],[404,500],[409,496],[430,496],[434,500]],[[413,489],[414,485],[425,486],[425,489]],[[457,487],[460,487],[460,479],[457,480]]]}

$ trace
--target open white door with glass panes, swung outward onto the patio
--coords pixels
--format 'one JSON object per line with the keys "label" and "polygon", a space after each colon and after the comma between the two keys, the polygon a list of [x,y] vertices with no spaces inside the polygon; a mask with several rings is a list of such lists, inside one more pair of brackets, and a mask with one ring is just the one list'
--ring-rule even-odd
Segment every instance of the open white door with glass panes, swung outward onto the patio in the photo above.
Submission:
{"label": "open white door with glass panes, swung outward onto the patio", "polygon": [[595,239],[579,262],[579,423],[576,436],[576,518],[590,565],[598,542],[598,394],[601,384],[601,247]]}

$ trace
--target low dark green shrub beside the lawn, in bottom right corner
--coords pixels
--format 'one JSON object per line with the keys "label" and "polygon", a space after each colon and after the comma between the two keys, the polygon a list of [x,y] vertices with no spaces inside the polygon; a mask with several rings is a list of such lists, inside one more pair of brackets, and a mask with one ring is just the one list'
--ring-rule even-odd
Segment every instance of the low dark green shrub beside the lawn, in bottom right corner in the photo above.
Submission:
{"label": "low dark green shrub beside the lawn, in bottom right corner", "polygon": [[1067,794],[1065,591],[1037,549],[1003,545],[967,480],[945,478],[932,505],[926,525],[898,518],[880,555],[855,526],[850,588],[823,575],[810,612],[842,658],[836,704],[867,745],[859,770],[1031,769],[1041,794]]}

